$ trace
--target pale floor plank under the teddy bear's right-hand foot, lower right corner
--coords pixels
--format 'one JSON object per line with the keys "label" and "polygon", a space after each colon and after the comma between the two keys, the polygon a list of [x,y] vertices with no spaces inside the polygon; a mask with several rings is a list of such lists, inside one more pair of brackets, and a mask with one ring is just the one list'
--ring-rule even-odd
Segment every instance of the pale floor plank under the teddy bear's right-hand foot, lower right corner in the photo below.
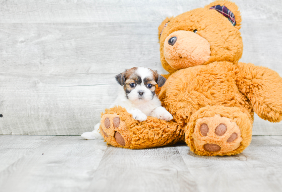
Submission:
{"label": "pale floor plank under the teddy bear's right-hand foot, lower right corner", "polygon": [[242,153],[201,157],[177,147],[200,191],[281,191],[282,136],[253,136]]}

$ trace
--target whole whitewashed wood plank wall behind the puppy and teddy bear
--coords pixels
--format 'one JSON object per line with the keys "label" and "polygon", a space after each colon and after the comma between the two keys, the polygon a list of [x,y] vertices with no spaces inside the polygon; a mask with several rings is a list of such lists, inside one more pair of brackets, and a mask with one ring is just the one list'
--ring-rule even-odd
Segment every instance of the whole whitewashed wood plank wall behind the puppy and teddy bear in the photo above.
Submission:
{"label": "whole whitewashed wood plank wall behind the puppy and teddy bear", "polygon": [[[211,0],[0,1],[0,134],[80,135],[115,99],[114,76],[145,66],[167,73],[158,26]],[[235,0],[241,62],[282,76],[282,1]],[[281,98],[282,99],[282,98]],[[253,135],[282,135],[255,116]]]}

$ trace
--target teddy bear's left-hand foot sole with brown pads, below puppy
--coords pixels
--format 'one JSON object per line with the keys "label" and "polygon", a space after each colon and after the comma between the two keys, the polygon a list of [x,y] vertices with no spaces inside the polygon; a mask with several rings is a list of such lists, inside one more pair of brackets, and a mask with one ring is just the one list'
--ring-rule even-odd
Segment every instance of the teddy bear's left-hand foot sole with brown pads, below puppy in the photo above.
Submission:
{"label": "teddy bear's left-hand foot sole with brown pads, below puppy", "polygon": [[129,130],[116,113],[102,116],[100,133],[107,143],[113,146],[129,148],[131,144]]}

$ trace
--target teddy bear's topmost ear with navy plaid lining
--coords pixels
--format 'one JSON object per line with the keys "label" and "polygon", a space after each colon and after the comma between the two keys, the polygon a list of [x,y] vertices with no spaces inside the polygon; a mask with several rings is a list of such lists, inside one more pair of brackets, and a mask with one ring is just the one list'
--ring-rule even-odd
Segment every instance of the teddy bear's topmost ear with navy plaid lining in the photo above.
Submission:
{"label": "teddy bear's topmost ear with navy plaid lining", "polygon": [[225,16],[237,29],[241,28],[241,15],[238,6],[231,1],[214,1],[205,6],[206,9],[214,9]]}

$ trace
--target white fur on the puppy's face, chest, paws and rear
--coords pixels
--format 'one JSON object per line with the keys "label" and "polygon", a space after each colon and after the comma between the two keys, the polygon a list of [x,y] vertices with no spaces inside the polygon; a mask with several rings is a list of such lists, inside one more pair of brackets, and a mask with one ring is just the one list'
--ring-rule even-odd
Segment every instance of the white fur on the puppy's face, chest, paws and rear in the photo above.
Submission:
{"label": "white fur on the puppy's face, chest, paws and rear", "polygon": [[[155,94],[153,97],[152,92],[144,85],[144,78],[152,76],[152,72],[144,67],[138,67],[136,72],[142,79],[141,85],[136,85],[136,87],[127,94],[128,99],[126,98],[123,86],[119,86],[118,96],[110,108],[115,105],[124,107],[127,112],[132,114],[132,117],[135,120],[140,122],[145,121],[147,116],[156,117],[166,121],[172,120],[172,115],[161,106],[161,101],[157,95]],[[139,95],[138,91],[144,91],[142,97]],[[100,123],[96,124],[92,132],[85,132],[81,137],[84,139],[103,139],[100,135],[99,126]]]}

